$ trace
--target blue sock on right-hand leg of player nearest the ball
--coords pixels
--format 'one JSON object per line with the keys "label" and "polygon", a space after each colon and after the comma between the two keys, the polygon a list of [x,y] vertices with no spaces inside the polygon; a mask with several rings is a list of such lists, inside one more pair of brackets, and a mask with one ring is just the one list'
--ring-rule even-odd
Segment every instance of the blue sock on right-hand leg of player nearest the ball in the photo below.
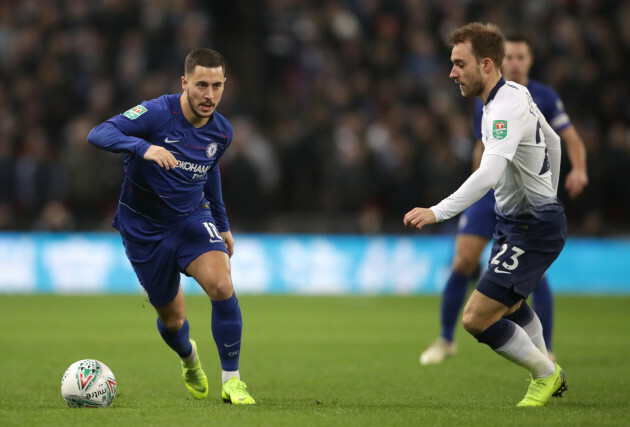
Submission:
{"label": "blue sock on right-hand leg of player nearest the ball", "polygon": [[224,371],[238,371],[243,319],[236,294],[226,300],[211,303],[212,336],[219,350],[221,368]]}

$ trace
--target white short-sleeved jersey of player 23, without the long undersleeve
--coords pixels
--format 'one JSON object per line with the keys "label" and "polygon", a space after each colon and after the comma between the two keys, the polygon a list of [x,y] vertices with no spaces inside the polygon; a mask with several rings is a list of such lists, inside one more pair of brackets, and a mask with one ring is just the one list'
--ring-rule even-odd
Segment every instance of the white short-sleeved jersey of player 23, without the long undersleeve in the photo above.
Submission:
{"label": "white short-sleeved jersey of player 23, without the long undersleeve", "polygon": [[481,118],[484,156],[508,160],[494,186],[496,208],[506,216],[531,214],[555,203],[560,172],[560,137],[525,86],[503,78],[492,90]]}

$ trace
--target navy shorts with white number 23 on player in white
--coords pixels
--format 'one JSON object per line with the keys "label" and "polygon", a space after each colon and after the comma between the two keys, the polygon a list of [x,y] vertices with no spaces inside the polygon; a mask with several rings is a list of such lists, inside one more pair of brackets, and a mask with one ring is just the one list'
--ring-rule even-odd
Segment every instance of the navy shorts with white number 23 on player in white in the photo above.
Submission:
{"label": "navy shorts with white number 23 on player in white", "polygon": [[560,202],[519,218],[497,215],[488,268],[477,290],[508,307],[527,299],[545,271],[558,258],[567,238]]}

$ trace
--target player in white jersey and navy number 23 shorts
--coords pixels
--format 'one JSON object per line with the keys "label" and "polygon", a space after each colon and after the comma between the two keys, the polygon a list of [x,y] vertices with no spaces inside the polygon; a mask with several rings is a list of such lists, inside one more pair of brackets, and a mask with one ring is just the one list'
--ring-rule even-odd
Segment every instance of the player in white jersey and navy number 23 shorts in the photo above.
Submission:
{"label": "player in white jersey and navy number 23 shorts", "polygon": [[491,259],[464,308],[464,329],[531,381],[520,407],[544,406],[567,389],[552,362],[536,313],[527,305],[566,241],[564,207],[557,198],[560,137],[526,87],[506,82],[500,64],[505,39],[492,24],[471,23],[450,36],[450,78],[465,97],[483,101],[484,152],[479,168],[446,199],[414,208],[403,222],[422,229],[452,218],[494,188],[497,226]]}

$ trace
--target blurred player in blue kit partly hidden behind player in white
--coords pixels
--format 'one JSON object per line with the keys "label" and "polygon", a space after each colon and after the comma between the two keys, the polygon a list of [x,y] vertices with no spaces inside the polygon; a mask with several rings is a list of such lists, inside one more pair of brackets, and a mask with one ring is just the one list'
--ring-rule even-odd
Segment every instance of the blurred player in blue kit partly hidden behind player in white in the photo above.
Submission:
{"label": "blurred player in blue kit partly hidden behind player in white", "polygon": [[[572,166],[566,177],[565,188],[569,197],[575,198],[588,184],[584,143],[571,124],[562,101],[555,91],[529,77],[532,61],[531,46],[525,37],[513,35],[506,39],[505,59],[502,65],[503,74],[507,80],[527,87],[547,122],[564,141]],[[483,103],[476,99],[474,123],[477,143],[473,156],[473,168],[479,166],[481,153],[483,153],[483,143],[481,142],[482,109]],[[488,241],[492,239],[496,222],[494,192],[492,190],[462,212],[457,229],[455,257],[451,274],[442,293],[440,336],[422,352],[420,355],[421,364],[440,363],[455,354],[457,350],[455,344],[457,318],[466,298],[468,284],[479,266],[481,254]],[[534,311],[543,325],[543,337],[547,351],[553,360],[554,356],[551,352],[553,297],[546,275],[542,277],[540,284],[534,290],[532,301]]]}

